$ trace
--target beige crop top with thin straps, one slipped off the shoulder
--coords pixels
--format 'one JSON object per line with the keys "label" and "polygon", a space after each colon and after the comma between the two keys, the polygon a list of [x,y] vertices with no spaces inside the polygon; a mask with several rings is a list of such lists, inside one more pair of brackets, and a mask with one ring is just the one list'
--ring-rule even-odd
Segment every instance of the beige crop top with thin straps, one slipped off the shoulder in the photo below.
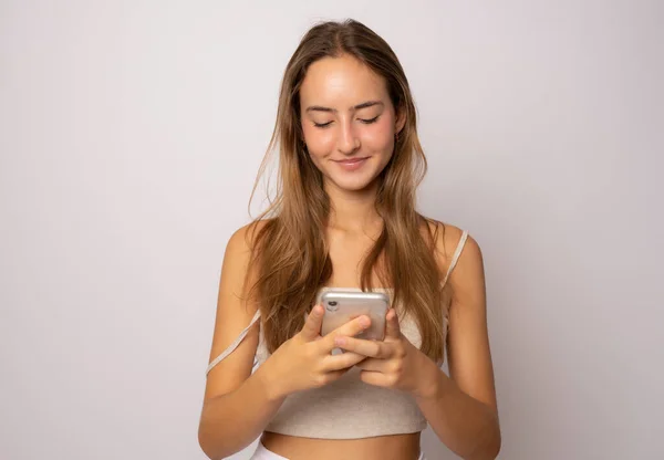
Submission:
{"label": "beige crop top with thin straps, one slipped off the shoulder", "polygon": [[[467,237],[468,233],[464,231],[443,285],[455,268]],[[359,288],[322,288],[319,297],[326,290],[360,291]],[[383,291],[388,295],[392,293],[391,289],[375,289],[375,291]],[[398,305],[394,307],[397,311],[402,334],[413,345],[419,347],[422,336],[414,318],[404,314]],[[260,311],[256,312],[251,323],[235,342],[209,364],[206,376],[212,367],[236,349],[259,317]],[[444,331],[447,331],[447,318],[444,322]],[[259,337],[252,372],[269,356],[262,330]],[[324,387],[289,395],[266,427],[266,431],[304,438],[357,439],[418,432],[426,428],[427,421],[411,395],[365,384],[360,380],[360,372],[357,367],[352,367],[341,378]]]}

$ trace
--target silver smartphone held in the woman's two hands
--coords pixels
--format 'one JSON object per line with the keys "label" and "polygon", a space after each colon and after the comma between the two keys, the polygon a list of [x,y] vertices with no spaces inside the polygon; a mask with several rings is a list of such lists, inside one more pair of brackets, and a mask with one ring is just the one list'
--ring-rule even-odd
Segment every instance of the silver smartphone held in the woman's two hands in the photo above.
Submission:
{"label": "silver smartphone held in the woman's two hands", "polygon": [[385,315],[390,310],[390,296],[383,292],[325,291],[319,303],[323,305],[321,336],[325,336],[349,321],[367,315],[371,326],[357,334],[357,338],[382,341],[385,338]]}

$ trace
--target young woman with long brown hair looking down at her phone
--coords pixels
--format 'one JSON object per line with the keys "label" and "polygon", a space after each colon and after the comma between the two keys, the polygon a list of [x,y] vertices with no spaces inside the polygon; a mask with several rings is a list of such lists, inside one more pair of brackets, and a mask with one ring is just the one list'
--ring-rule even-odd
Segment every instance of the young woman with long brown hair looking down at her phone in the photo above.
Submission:
{"label": "young woman with long brown hair looking down at her phone", "polygon": [[[313,27],[286,69],[274,147],[277,198],[224,257],[203,450],[262,435],[255,459],[414,460],[428,424],[460,457],[495,458],[481,253],[415,210],[426,159],[387,43],[356,21]],[[388,294],[384,341],[354,337],[367,316],[321,337],[317,300],[335,289]]]}

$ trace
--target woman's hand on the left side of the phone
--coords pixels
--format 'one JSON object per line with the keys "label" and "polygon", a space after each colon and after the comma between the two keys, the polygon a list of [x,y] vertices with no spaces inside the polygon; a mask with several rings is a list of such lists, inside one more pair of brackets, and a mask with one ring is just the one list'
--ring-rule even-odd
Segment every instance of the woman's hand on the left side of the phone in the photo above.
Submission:
{"label": "woman's hand on the left side of the phone", "polygon": [[340,378],[345,372],[365,358],[356,353],[345,352],[332,355],[334,337],[355,336],[371,325],[366,315],[357,316],[321,337],[323,306],[315,305],[302,330],[286,341],[262,364],[269,376],[274,397],[286,397],[309,388],[319,388]]}

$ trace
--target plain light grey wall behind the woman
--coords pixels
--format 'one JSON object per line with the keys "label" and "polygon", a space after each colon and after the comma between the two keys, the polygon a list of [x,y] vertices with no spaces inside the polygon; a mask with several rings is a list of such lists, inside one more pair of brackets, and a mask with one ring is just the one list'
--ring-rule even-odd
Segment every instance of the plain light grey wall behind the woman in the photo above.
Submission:
{"label": "plain light grey wall behind the woman", "polygon": [[346,17],[409,77],[422,210],[484,249],[501,458],[664,454],[661,1],[0,4],[2,459],[204,458],[225,244]]}

